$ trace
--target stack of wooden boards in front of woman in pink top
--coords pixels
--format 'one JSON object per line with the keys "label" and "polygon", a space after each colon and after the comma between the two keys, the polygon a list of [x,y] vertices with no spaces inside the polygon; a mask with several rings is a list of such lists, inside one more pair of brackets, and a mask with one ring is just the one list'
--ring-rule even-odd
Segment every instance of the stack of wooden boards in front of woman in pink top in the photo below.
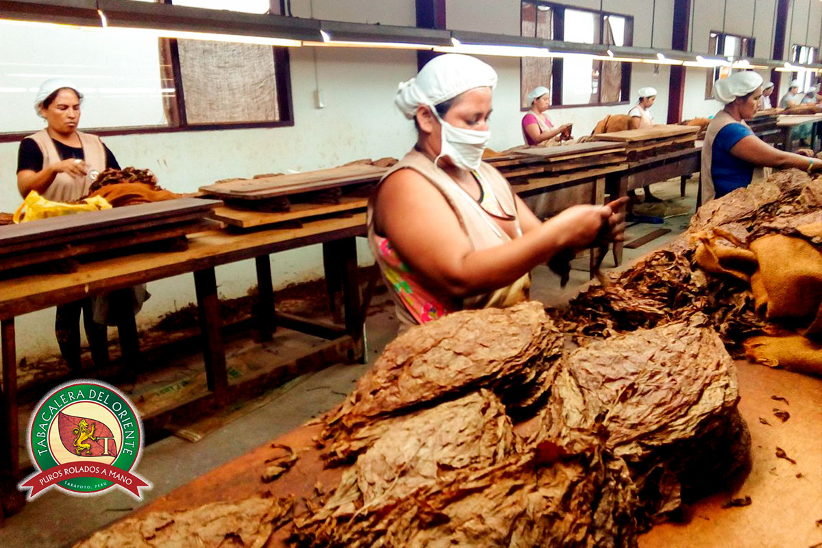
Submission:
{"label": "stack of wooden boards in front of woman in pink top", "polygon": [[564,173],[598,168],[626,161],[621,143],[588,142],[559,146],[522,146],[485,159],[513,184],[517,177],[542,173]]}

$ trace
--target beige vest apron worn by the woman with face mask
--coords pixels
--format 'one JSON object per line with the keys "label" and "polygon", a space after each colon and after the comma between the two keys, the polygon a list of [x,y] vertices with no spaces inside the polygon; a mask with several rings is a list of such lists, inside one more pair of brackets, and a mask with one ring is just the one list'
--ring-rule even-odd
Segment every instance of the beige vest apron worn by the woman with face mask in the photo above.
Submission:
{"label": "beige vest apron worn by the woman with face mask", "polygon": [[[399,169],[410,168],[425,177],[428,182],[431,182],[442,196],[446,198],[451,209],[454,210],[459,225],[463,228],[465,235],[468,236],[473,249],[482,250],[488,247],[498,246],[501,243],[509,242],[510,237],[502,230],[498,224],[492,219],[490,214],[474,200],[464,188],[460,187],[451,177],[440,168],[436,168],[434,163],[428,159],[425,154],[418,150],[411,150],[405,157],[395,164],[385,176],[382,181],[386,179],[391,173]],[[494,192],[494,196],[499,200],[502,210],[510,216],[517,218],[516,203],[514,200],[514,193],[511,191],[510,185],[505,177],[496,171],[487,163],[481,163],[478,169],[480,177],[488,183]],[[376,233],[374,230],[374,196],[372,200],[368,201],[368,243],[371,246],[372,253],[380,271],[385,271],[385,261],[382,259],[376,245]],[[520,221],[516,219],[517,233],[521,234]],[[416,325],[413,316],[405,309],[405,305],[400,299],[397,292],[395,292],[394,285],[386,281],[386,287],[394,299],[397,318],[399,318],[401,325],[400,329],[407,328],[410,325]],[[497,289],[492,293],[485,295],[478,295],[475,297],[468,297],[462,300],[462,308],[477,309],[498,307],[505,308],[506,306],[515,305],[517,302],[524,301],[528,298],[528,289],[531,285],[530,274],[524,274],[520,279],[511,283],[505,288]]]}

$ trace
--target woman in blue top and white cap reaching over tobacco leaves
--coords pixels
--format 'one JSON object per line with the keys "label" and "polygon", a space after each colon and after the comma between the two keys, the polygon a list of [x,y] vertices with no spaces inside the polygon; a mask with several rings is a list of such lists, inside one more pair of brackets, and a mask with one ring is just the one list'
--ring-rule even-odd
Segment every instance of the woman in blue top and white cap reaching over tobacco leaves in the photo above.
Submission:
{"label": "woman in blue top and white cap reaching over tobacco leaves", "polygon": [[822,161],[778,150],[754,135],[745,123],[762,95],[762,76],[736,72],[713,85],[713,99],[725,107],[705,132],[700,185],[702,203],[767,177],[765,168],[822,169]]}

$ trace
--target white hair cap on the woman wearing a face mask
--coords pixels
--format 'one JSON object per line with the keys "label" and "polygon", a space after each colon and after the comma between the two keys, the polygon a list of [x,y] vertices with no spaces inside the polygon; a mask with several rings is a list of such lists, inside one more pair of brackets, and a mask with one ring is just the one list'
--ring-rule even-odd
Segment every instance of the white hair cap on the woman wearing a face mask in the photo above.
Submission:
{"label": "white hair cap on the woman wearing a face mask", "polygon": [[445,53],[427,62],[415,78],[401,83],[394,101],[410,120],[420,105],[433,107],[484,86],[496,86],[491,65],[469,55]]}

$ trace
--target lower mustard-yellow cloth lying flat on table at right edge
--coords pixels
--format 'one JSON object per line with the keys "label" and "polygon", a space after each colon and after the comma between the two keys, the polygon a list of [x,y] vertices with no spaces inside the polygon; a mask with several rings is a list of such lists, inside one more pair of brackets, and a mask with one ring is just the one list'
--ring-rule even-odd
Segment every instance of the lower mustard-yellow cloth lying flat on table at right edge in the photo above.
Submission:
{"label": "lower mustard-yellow cloth lying flat on table at right edge", "polygon": [[744,346],[745,355],[751,361],[822,376],[822,346],[801,335],[751,337]]}

